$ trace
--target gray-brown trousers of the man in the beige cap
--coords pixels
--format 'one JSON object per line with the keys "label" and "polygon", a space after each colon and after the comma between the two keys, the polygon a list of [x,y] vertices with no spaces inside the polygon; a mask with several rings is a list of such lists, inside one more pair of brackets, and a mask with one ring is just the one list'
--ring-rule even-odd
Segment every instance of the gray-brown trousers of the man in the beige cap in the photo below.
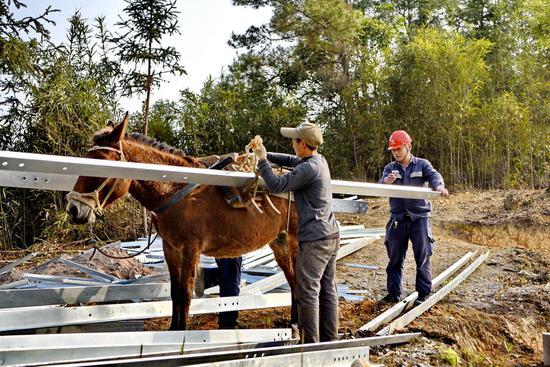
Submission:
{"label": "gray-brown trousers of the man in the beige cap", "polygon": [[296,258],[298,326],[304,343],[338,339],[336,255],[340,239],[300,242]]}

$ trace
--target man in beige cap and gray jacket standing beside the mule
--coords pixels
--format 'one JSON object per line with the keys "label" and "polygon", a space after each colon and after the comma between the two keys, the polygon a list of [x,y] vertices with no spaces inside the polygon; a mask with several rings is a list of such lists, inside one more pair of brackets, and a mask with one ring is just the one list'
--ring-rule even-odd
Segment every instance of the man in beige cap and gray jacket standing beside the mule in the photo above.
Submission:
{"label": "man in beige cap and gray jacket standing beside the mule", "polygon": [[[254,148],[258,169],[273,193],[294,192],[298,212],[298,257],[296,298],[302,341],[316,343],[338,337],[336,255],[340,248],[338,224],[332,213],[330,170],[317,152],[323,143],[319,127],[303,123],[281,128],[292,138],[296,156],[267,153],[263,144]],[[283,176],[273,173],[269,161],[293,170]],[[321,322],[320,322],[321,321]]]}

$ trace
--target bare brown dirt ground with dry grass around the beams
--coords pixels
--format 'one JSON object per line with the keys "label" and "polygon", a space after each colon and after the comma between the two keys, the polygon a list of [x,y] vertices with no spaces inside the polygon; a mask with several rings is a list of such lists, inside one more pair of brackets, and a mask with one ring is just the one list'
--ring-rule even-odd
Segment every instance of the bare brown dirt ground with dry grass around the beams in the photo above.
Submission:
{"label": "bare brown dirt ground with dry grass around the beams", "polygon": [[[338,219],[342,224],[385,226],[387,199],[367,201],[367,214],[338,215]],[[434,202],[432,228],[436,238],[434,276],[468,251],[478,250],[479,255],[489,250],[490,255],[465,282],[404,330],[419,331],[421,338],[409,344],[374,348],[371,361],[386,366],[542,366],[542,333],[550,331],[550,191],[451,193],[450,198]],[[36,264],[60,254],[74,255],[84,248],[82,244],[55,248],[42,244],[30,251],[41,252],[33,260]],[[0,253],[0,266],[22,255]],[[115,264],[97,258],[93,264],[88,257],[85,254],[76,259],[121,278],[151,273],[133,259]],[[362,302],[341,300],[340,331],[349,337],[384,310],[376,301],[385,294],[386,262],[383,240],[378,240],[338,265],[339,283],[366,294]],[[344,263],[380,269],[358,269]],[[36,273],[83,276],[78,271],[51,270],[51,265],[37,269],[32,263],[16,271],[29,272],[29,268]],[[0,278],[0,283],[12,279],[17,279],[16,272]],[[414,291],[414,279],[414,259],[409,251],[406,294]],[[289,315],[288,308],[244,311],[239,321],[241,327],[248,328],[287,327]],[[164,330],[168,325],[169,319],[145,323],[147,330]],[[216,327],[216,315],[201,315],[190,321],[191,329]]]}

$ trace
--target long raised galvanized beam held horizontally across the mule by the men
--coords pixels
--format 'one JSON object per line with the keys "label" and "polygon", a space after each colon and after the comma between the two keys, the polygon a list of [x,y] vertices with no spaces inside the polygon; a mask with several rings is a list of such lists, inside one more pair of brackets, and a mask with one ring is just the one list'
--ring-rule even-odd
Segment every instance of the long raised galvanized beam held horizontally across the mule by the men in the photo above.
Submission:
{"label": "long raised galvanized beam held horizontally across the mule by the men", "polygon": [[[69,179],[61,175],[90,177],[115,177],[146,181],[185,182],[218,186],[244,186],[254,179],[254,174],[217,171],[201,168],[177,167],[159,164],[119,162],[100,159],[64,157],[46,154],[0,151],[0,185],[16,187],[52,188],[53,183],[68,188]],[[20,174],[24,173],[24,176]],[[4,175],[5,174],[5,175]],[[57,176],[51,176],[52,174]],[[27,177],[28,176],[28,177]],[[51,177],[50,177],[51,176]],[[25,177],[25,179],[23,179]],[[74,182],[74,181],[73,181]],[[60,190],[57,189],[57,190]],[[383,185],[364,182],[332,180],[334,194],[400,197],[409,199],[434,199],[439,193],[428,188]]]}

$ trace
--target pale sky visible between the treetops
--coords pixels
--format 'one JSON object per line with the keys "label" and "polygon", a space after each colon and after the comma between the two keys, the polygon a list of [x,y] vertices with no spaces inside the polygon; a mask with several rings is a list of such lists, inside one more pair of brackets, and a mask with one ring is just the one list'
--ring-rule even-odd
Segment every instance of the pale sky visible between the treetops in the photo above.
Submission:
{"label": "pale sky visible between the treetops", "polygon": [[[38,15],[48,6],[60,9],[50,19],[56,22],[49,26],[54,43],[65,40],[68,29],[67,18],[80,10],[83,17],[92,21],[97,16],[106,17],[109,30],[114,31],[114,23],[126,3],[123,0],[27,0],[27,9],[15,11],[19,15]],[[227,45],[231,32],[243,33],[251,25],[262,25],[269,21],[272,10],[233,6],[231,0],[178,0],[179,29],[181,35],[169,40],[181,53],[181,64],[187,71],[182,77],[170,77],[170,83],[153,91],[153,100],[160,98],[176,99],[178,92],[189,88],[198,92],[208,75],[217,78],[222,70],[227,70],[236,56],[236,50]],[[167,44],[167,43],[166,43]],[[130,110],[137,110],[140,101],[127,101]],[[123,102],[125,103],[125,102]]]}

